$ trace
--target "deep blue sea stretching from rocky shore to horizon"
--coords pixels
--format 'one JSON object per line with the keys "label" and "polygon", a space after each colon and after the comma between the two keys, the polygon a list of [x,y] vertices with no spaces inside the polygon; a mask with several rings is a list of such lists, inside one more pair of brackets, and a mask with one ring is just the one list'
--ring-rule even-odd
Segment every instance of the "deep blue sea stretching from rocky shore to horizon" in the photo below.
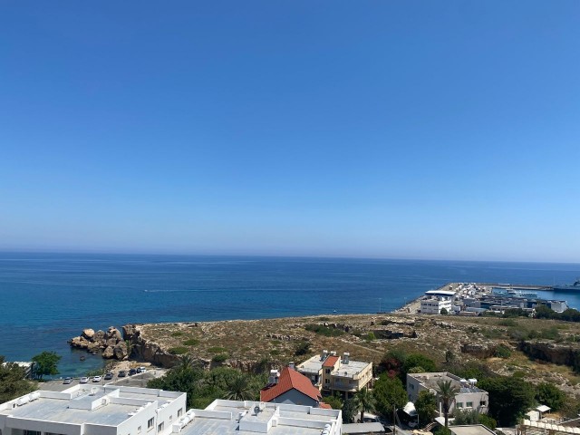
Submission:
{"label": "deep blue sea stretching from rocky shore to horizon", "polygon": [[[448,282],[552,285],[578,276],[580,265],[556,263],[4,252],[0,355],[30,361],[54,351],[59,376],[79,376],[103,364],[69,347],[84,328],[372,314]],[[580,307],[580,295],[541,296]]]}

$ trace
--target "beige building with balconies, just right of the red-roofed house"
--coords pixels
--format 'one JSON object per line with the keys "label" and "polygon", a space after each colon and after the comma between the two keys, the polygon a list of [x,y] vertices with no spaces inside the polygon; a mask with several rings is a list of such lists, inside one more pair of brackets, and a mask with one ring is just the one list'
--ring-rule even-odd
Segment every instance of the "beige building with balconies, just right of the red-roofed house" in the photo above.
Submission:
{"label": "beige building with balconies, just right of the red-roofed house", "polygon": [[320,355],[298,364],[296,371],[304,374],[319,390],[345,398],[361,390],[372,380],[372,362],[351,361],[349,353],[339,357],[335,352]]}

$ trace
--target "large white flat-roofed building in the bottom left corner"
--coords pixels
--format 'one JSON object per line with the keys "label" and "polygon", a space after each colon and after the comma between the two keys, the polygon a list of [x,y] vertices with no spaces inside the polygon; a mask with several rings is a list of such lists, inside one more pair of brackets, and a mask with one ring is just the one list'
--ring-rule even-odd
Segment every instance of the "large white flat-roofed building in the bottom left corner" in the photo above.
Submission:
{"label": "large white flat-roofed building in the bottom left corner", "polygon": [[169,435],[185,411],[185,392],[80,384],[0,404],[0,435]]}

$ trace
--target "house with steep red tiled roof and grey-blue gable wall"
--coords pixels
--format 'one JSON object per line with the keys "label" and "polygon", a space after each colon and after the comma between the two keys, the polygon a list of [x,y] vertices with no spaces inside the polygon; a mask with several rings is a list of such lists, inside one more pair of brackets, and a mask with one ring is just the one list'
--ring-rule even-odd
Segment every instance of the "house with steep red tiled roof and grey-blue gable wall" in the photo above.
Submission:
{"label": "house with steep red tiled roof and grey-blue gable wall", "polygon": [[322,408],[320,391],[310,379],[296,372],[294,367],[285,367],[281,373],[271,371],[268,382],[260,391],[260,401]]}

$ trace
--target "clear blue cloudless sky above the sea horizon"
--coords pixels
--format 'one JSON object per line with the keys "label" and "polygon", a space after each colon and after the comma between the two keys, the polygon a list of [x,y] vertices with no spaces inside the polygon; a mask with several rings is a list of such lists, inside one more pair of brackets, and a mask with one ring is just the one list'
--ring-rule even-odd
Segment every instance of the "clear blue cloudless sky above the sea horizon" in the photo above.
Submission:
{"label": "clear blue cloudless sky above the sea horizon", "polygon": [[0,249],[580,262],[580,2],[0,2]]}

